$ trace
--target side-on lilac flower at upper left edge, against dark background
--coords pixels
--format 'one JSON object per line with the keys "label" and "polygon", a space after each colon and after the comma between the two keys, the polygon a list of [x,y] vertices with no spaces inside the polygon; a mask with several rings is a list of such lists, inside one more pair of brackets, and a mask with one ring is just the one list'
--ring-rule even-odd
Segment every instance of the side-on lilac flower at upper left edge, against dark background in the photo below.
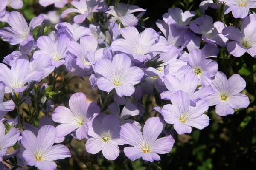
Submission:
{"label": "side-on lilac flower at upper left edge, against dark background", "polygon": [[0,29],[0,37],[2,37],[3,41],[9,41],[11,45],[26,45],[29,41],[34,41],[32,30],[40,26],[43,20],[43,15],[34,17],[28,27],[23,15],[17,11],[13,11],[8,17],[8,23],[11,27]]}

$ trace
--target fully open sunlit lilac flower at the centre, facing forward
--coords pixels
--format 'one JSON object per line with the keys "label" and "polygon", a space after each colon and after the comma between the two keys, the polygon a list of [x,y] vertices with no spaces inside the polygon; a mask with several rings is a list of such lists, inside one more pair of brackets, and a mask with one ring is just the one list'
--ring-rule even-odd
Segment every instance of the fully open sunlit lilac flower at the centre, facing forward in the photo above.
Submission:
{"label": "fully open sunlit lilac flower at the centre, facing forward", "polygon": [[140,83],[144,72],[139,67],[131,67],[131,59],[126,54],[116,54],[113,61],[100,59],[94,71],[102,77],[97,80],[100,90],[110,92],[116,89],[118,96],[131,96],[134,85]]}

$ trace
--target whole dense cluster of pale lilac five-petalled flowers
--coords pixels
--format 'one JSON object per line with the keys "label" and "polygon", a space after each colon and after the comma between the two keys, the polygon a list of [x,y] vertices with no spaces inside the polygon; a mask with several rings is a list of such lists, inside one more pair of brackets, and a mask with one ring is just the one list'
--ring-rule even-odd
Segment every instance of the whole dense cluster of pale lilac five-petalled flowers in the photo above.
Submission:
{"label": "whole dense cluster of pale lilac five-petalled flowers", "polygon": [[[0,19],[10,27],[1,28],[0,37],[20,46],[0,63],[0,161],[7,147],[23,146],[18,149],[20,166],[54,170],[57,164],[53,161],[71,156],[65,146],[69,137],[86,139],[88,153],[101,151],[108,160],[115,160],[124,148],[132,161],[159,161],[159,154],[169,153],[175,143],[173,136],[165,133],[166,125],[179,135],[191,133],[192,127],[202,130],[210,124],[209,106],[216,105],[215,113],[220,116],[247,108],[249,98],[241,93],[245,80],[239,74],[227,78],[218,71],[215,58],[220,48],[227,49],[230,57],[247,52],[256,58],[256,17],[248,16],[256,3],[221,2],[225,3],[204,1],[200,9],[228,6],[225,14],[232,11],[235,18],[243,18],[240,28],[213,22],[208,15],[199,17],[195,11],[169,8],[156,22],[162,33],[152,28],[139,31],[135,26],[145,9],[123,3],[108,7],[104,0],[73,0],[72,8],[61,16],[54,11],[40,14],[28,25],[20,12],[5,10],[7,5],[19,9],[23,1],[4,0]],[[54,4],[62,8],[67,3],[39,0],[44,7]],[[71,20],[76,24],[61,22],[70,13],[78,13]],[[49,34],[44,24],[47,19],[53,26]],[[35,36],[32,31],[38,26]],[[52,106],[60,89],[73,79],[65,79],[58,87],[58,75],[67,73],[90,77],[93,88],[102,94],[97,104],[80,92],[70,96],[68,107]],[[3,100],[5,93],[12,93],[12,100]],[[145,116],[145,94],[158,95],[164,105],[154,107],[160,114],[148,118],[142,128],[138,117]],[[25,122],[19,109],[23,102],[35,108],[28,111]],[[8,124],[4,117],[15,105],[18,120]],[[46,116],[40,119],[44,123],[38,129],[32,125],[40,111]]]}

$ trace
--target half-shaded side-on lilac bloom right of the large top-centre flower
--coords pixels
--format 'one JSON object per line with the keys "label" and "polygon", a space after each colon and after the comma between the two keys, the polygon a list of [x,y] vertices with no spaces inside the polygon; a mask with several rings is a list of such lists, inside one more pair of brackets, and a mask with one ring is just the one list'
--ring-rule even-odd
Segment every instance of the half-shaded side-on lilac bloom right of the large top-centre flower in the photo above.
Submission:
{"label": "half-shaded side-on lilac bloom right of the large top-centre flower", "polygon": [[[180,47],[185,43],[184,34],[187,32],[187,29],[178,28],[175,24],[168,24],[164,20],[157,20],[156,25],[163,32],[169,45]],[[165,40],[164,37],[160,36],[160,40]]]}

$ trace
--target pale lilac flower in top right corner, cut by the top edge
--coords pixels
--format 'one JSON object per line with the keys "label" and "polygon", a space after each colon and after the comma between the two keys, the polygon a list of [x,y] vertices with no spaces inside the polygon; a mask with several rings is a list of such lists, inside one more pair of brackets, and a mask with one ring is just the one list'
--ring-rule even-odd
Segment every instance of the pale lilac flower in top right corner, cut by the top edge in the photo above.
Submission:
{"label": "pale lilac flower in top right corner, cut by the top edge", "polygon": [[232,11],[233,17],[245,18],[248,15],[250,8],[256,8],[256,0],[220,0],[229,6],[229,11]]}

